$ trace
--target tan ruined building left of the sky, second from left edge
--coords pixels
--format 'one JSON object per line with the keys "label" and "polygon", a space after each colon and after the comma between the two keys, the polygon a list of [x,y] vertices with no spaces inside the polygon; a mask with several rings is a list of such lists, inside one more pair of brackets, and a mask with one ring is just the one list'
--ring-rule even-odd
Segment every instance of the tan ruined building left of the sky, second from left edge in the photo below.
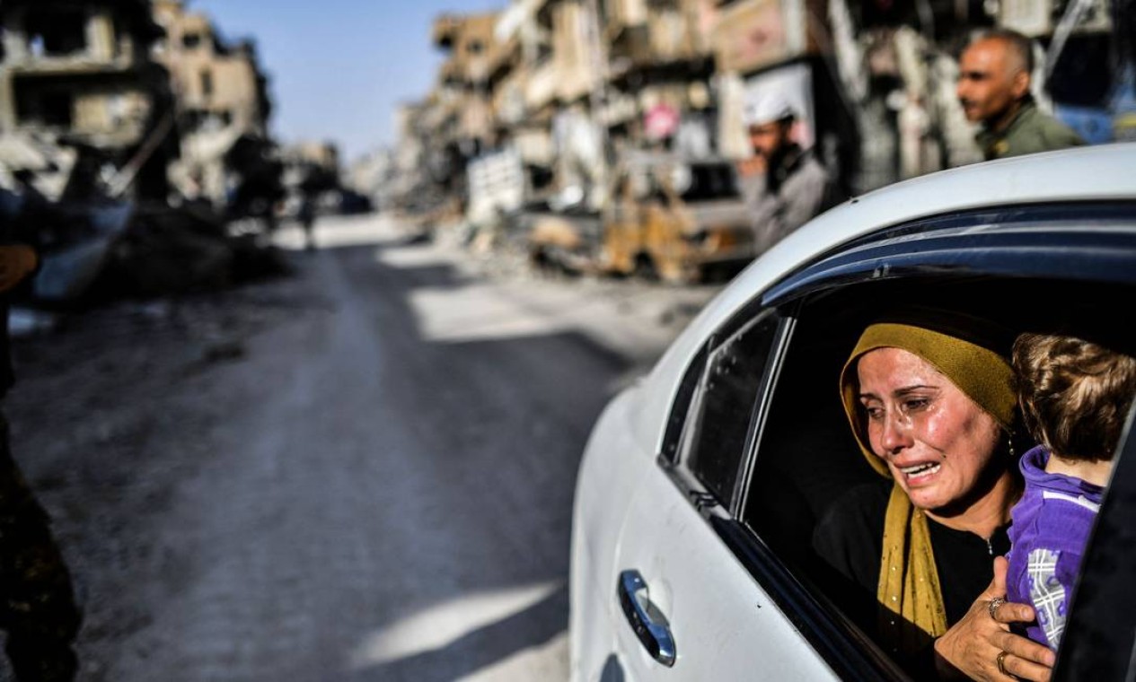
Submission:
{"label": "tan ruined building left of the sky, second from left edge", "polygon": [[239,140],[269,136],[272,101],[256,43],[226,40],[183,0],[156,0],[153,17],[166,33],[154,59],[169,70],[182,142],[170,180],[183,196],[220,208],[240,182],[226,154]]}

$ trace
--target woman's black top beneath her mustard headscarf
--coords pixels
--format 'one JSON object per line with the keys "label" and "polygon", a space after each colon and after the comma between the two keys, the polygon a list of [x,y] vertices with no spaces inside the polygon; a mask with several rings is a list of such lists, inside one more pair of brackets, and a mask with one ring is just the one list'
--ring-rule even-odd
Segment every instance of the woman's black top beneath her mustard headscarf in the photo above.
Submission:
{"label": "woman's black top beneath her mustard headscarf", "polygon": [[[876,631],[884,517],[892,486],[880,479],[850,489],[828,507],[812,533],[813,549],[835,571],[835,584],[829,587],[851,592],[834,599],[869,634]],[[994,579],[994,557],[1010,550],[1009,525],[999,528],[987,544],[972,532],[927,519],[949,626],[962,620]]]}

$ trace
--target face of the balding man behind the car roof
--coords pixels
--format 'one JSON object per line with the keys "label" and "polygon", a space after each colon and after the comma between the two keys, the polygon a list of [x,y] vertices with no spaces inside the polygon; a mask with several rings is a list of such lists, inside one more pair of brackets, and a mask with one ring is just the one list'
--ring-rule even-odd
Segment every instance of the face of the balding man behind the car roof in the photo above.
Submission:
{"label": "face of the balding man behind the car roof", "polygon": [[967,120],[997,123],[1029,91],[1029,74],[1005,42],[980,40],[959,60],[957,93]]}

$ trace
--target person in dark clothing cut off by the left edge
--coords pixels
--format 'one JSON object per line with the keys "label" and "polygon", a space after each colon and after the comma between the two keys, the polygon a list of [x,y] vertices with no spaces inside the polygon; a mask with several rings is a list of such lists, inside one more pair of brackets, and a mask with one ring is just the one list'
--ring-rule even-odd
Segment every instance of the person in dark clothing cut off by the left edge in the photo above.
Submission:
{"label": "person in dark clothing cut off by the left edge", "polygon": [[[2,191],[0,191],[2,192]],[[22,239],[16,204],[5,193],[0,207],[0,399],[14,381],[8,339],[10,291],[39,264],[30,239]],[[30,230],[35,225],[26,226]],[[70,572],[51,534],[47,511],[24,479],[8,447],[8,422],[0,410],[0,628],[19,682],[70,682],[77,660],[72,643],[82,616]]]}

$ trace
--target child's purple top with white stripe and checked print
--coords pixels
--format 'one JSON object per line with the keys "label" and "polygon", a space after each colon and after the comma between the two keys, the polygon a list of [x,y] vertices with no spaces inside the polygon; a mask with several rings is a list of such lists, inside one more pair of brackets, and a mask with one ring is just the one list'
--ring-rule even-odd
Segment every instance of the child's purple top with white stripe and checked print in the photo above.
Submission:
{"label": "child's purple top with white stripe and checked print", "polygon": [[1011,512],[1006,599],[1034,606],[1026,635],[1056,650],[1103,488],[1046,472],[1049,458],[1043,446],[1021,457],[1026,491]]}

